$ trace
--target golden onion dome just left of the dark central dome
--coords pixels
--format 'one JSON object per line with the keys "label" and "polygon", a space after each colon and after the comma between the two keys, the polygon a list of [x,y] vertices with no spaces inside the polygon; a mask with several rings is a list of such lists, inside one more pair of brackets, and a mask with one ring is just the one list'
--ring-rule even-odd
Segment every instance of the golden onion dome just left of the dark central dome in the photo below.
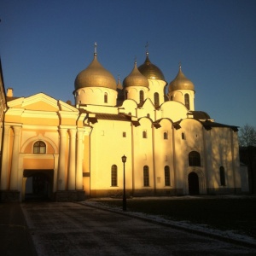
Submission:
{"label": "golden onion dome just left of the dark central dome", "polygon": [[146,79],[142,73],[137,69],[137,62],[134,63],[134,67],[131,73],[123,81],[124,87],[129,86],[143,86],[148,87],[148,79]]}

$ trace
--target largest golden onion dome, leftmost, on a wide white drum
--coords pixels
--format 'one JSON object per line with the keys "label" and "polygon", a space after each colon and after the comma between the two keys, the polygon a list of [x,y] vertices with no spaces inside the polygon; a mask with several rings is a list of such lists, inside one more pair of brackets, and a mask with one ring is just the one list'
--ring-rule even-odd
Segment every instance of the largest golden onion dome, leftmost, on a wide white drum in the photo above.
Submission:
{"label": "largest golden onion dome, leftmost, on a wide white drum", "polygon": [[77,75],[74,87],[75,90],[84,87],[106,87],[116,90],[116,81],[113,75],[97,61],[95,53],[90,65]]}

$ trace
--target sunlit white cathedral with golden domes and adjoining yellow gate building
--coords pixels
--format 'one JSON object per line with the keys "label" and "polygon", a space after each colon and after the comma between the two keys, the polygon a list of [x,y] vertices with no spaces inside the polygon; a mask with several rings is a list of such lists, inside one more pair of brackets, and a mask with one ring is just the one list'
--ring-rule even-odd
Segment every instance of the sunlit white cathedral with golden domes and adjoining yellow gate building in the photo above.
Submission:
{"label": "sunlit white cathedral with golden domes and adjoining yellow gate building", "polygon": [[1,201],[118,197],[124,182],[130,197],[247,190],[238,127],[195,110],[182,67],[169,83],[148,50],[121,84],[95,49],[74,80],[74,105],[44,93],[15,97],[2,69],[0,85]]}

